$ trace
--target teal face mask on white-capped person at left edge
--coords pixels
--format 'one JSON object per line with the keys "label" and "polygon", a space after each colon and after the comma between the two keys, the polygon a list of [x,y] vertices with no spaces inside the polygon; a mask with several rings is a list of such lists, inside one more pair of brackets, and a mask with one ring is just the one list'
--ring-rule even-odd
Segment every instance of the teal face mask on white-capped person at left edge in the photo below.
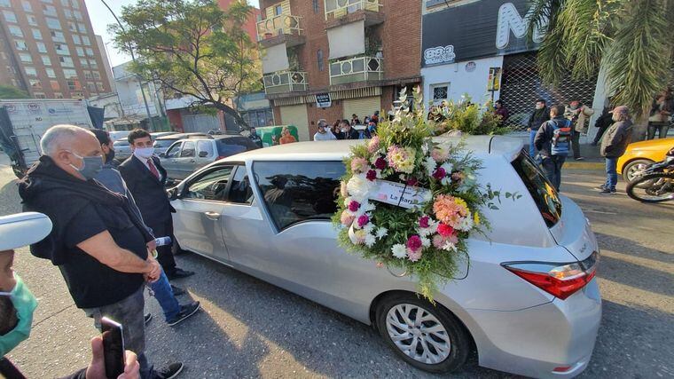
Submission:
{"label": "teal face mask on white-capped person at left edge", "polygon": [[37,300],[21,280],[20,276],[14,273],[16,286],[12,292],[0,292],[0,296],[9,296],[16,310],[19,322],[16,327],[10,330],[4,336],[0,336],[0,357],[12,351],[19,343],[30,336],[30,328],[33,324],[33,312],[37,307]]}

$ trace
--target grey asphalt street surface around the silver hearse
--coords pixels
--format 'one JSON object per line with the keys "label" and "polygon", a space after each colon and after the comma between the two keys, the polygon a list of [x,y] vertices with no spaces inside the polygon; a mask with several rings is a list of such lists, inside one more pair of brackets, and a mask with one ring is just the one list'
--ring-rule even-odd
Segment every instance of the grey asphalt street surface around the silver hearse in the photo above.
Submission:
{"label": "grey asphalt street surface around the silver hearse", "polygon": [[[20,211],[12,171],[0,154],[0,215]],[[4,161],[6,163],[6,160]],[[567,170],[562,191],[592,221],[602,257],[600,335],[582,377],[674,376],[674,203],[642,205],[625,195],[602,197],[592,187],[598,171]],[[622,189],[622,187],[621,187]],[[58,201],[58,199],[55,199]],[[434,377],[401,360],[357,321],[246,274],[192,254],[179,265],[198,272],[177,283],[203,312],[176,328],[154,320],[148,354],[157,365],[182,360],[182,377]],[[38,297],[33,332],[10,358],[28,377],[58,377],[90,359],[97,331],[67,293],[59,270],[20,249],[16,271]],[[183,301],[188,296],[184,296]],[[512,377],[477,367],[449,377]]]}

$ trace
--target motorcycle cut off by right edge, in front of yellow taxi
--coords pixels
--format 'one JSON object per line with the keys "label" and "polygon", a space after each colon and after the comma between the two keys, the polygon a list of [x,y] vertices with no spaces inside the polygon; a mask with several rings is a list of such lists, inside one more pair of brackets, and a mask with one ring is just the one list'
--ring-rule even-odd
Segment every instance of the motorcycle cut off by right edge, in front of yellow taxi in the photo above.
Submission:
{"label": "motorcycle cut off by right edge, in front of yellow taxi", "polygon": [[627,185],[627,195],[641,202],[674,200],[674,148],[662,162],[648,165]]}

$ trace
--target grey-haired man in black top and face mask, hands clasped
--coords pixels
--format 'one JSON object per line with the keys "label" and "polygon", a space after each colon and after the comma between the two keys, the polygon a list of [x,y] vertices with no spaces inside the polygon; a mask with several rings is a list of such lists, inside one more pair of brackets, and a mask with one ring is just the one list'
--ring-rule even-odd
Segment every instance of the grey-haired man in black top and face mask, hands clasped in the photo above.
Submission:
{"label": "grey-haired man in black top and face mask, hands clasped", "polygon": [[43,156],[19,184],[26,209],[51,218],[49,236],[31,246],[35,257],[58,265],[74,304],[94,319],[120,322],[124,342],[138,355],[143,378],[173,378],[174,363],[155,371],[145,357],[145,280],[155,281],[161,266],[148,254],[153,240],[129,201],[93,178],[103,166],[98,139],[74,125],[44,133]]}

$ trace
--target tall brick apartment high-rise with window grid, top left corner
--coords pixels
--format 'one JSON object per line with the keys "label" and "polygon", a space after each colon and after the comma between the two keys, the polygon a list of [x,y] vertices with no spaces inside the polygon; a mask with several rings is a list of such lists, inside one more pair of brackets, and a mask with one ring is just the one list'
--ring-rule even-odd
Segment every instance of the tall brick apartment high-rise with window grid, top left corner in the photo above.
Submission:
{"label": "tall brick apartment high-rise with window grid, top left corner", "polygon": [[0,0],[0,83],[36,99],[111,92],[84,0]]}

